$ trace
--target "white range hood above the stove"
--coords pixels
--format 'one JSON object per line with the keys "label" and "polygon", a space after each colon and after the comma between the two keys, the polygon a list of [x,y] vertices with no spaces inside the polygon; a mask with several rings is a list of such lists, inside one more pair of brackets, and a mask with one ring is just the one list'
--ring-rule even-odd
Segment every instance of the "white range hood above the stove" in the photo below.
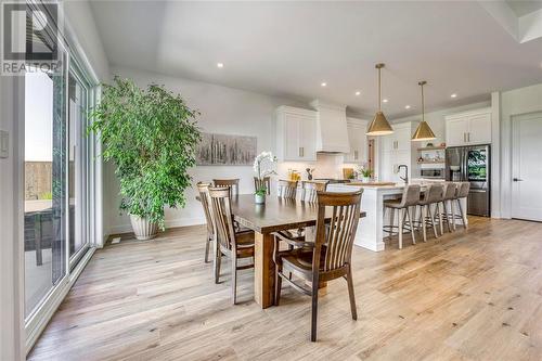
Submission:
{"label": "white range hood above the stove", "polygon": [[349,153],[346,105],[314,100],[310,105],[317,111],[317,152]]}

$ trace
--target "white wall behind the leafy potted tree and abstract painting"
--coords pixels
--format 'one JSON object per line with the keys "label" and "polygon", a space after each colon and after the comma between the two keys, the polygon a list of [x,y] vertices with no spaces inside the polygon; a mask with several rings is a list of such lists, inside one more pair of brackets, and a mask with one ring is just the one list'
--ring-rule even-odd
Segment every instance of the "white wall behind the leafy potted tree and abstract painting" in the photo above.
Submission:
{"label": "white wall behind the leafy potted tree and abstract painting", "polygon": [[[197,120],[203,131],[257,137],[258,152],[275,152],[275,108],[280,105],[300,106],[284,99],[136,69],[113,68],[113,74],[132,78],[140,87],[153,82],[165,85],[167,89],[180,93],[191,108],[202,113]],[[240,193],[254,192],[255,175],[251,166],[205,166],[196,167],[190,173],[194,184],[197,181],[211,181],[214,178],[240,178]],[[113,164],[105,167],[104,185],[105,218],[109,220],[109,232],[130,232],[129,218],[118,211],[120,197]],[[195,201],[195,189],[188,190],[185,195],[185,208],[166,209],[167,227],[205,222],[202,206]]]}

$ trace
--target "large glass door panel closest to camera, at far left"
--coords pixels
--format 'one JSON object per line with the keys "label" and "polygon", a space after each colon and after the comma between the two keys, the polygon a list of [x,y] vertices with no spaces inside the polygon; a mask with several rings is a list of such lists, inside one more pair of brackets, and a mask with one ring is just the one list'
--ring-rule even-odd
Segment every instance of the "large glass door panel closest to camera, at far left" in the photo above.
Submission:
{"label": "large glass door panel closest to camera, at far left", "polygon": [[25,75],[25,317],[66,274],[65,64]]}

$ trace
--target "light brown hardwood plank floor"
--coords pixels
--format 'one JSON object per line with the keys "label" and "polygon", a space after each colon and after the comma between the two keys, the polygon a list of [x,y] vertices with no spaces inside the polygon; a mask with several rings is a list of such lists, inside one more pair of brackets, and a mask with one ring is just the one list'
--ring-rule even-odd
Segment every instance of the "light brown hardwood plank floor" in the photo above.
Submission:
{"label": "light brown hardwood plank floor", "polygon": [[[428,234],[430,234],[428,232]],[[470,218],[439,240],[352,256],[358,321],[346,281],[328,283],[319,341],[310,298],[254,301],[253,270],[215,284],[205,227],[98,250],[31,360],[541,360],[542,223]],[[420,237],[418,237],[420,240]]]}

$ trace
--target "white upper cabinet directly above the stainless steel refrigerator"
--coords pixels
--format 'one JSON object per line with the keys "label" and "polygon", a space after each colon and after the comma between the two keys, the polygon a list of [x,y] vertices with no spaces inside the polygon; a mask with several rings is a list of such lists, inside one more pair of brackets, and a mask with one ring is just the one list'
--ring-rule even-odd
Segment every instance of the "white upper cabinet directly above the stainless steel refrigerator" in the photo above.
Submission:
{"label": "white upper cabinet directly above the stainless steel refrigerator", "polygon": [[491,143],[491,108],[446,117],[447,146]]}

